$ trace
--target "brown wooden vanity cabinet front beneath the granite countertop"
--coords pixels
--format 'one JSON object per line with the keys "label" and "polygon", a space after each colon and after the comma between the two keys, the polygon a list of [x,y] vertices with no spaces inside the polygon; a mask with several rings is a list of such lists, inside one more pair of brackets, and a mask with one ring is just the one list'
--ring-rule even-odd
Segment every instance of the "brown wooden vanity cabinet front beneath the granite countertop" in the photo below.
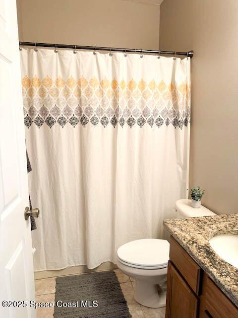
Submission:
{"label": "brown wooden vanity cabinet front beneath the granite countertop", "polygon": [[238,308],[172,237],[166,318],[238,318]]}

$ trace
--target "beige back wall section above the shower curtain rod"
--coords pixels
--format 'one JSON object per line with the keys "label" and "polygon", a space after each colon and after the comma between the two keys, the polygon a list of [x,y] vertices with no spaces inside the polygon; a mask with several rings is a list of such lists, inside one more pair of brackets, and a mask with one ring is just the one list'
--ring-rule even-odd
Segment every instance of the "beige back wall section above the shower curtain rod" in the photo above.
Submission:
{"label": "beige back wall section above the shower curtain rod", "polygon": [[159,48],[159,5],[125,0],[17,0],[19,41]]}

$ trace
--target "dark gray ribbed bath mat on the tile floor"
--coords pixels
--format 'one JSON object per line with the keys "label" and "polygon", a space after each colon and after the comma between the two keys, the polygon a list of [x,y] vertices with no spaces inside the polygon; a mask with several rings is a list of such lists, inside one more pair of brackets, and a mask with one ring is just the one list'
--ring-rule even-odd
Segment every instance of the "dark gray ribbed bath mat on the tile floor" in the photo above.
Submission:
{"label": "dark gray ribbed bath mat on the tile floor", "polygon": [[58,277],[55,303],[54,318],[131,318],[114,271]]}

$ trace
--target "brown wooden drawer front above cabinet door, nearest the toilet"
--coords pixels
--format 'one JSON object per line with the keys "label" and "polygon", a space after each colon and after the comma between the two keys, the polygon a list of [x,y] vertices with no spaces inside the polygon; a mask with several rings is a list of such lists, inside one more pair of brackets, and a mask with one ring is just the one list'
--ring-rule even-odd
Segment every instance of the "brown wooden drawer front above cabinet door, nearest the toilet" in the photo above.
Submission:
{"label": "brown wooden drawer front above cabinet door, nearest the toilet", "polygon": [[173,237],[170,239],[170,260],[194,293],[198,295],[201,268]]}

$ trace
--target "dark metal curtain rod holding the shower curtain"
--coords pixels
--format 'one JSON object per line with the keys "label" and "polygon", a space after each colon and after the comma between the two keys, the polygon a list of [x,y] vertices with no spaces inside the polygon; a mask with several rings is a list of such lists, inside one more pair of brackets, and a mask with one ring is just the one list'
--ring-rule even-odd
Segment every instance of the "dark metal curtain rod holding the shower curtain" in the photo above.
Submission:
{"label": "dark metal curtain rod holding the shower curtain", "polygon": [[126,48],[110,48],[102,46],[85,46],[85,45],[69,45],[69,44],[52,44],[52,43],[34,43],[34,42],[19,42],[19,46],[34,46],[34,47],[46,47],[46,48],[61,48],[61,49],[74,49],[74,50],[92,50],[92,51],[112,51],[112,52],[124,52],[124,53],[148,53],[148,54],[169,54],[169,55],[184,55],[187,57],[193,57],[193,51],[177,52],[177,51],[154,51],[143,49],[126,49]]}

